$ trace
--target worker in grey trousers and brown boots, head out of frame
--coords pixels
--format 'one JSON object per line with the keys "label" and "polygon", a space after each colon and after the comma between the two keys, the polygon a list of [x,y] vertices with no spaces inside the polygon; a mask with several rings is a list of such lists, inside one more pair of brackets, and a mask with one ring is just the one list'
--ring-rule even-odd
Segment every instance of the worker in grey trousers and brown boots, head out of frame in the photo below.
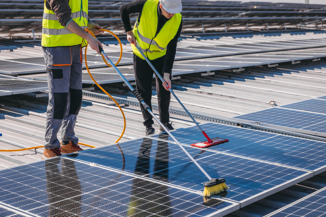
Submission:
{"label": "worker in grey trousers and brown boots, head out of frame", "polygon": [[[82,47],[99,52],[101,27],[88,19],[88,0],[45,0],[42,48],[49,86],[42,159],[81,151],[74,127],[82,106]],[[61,128],[61,145],[57,133]]]}

